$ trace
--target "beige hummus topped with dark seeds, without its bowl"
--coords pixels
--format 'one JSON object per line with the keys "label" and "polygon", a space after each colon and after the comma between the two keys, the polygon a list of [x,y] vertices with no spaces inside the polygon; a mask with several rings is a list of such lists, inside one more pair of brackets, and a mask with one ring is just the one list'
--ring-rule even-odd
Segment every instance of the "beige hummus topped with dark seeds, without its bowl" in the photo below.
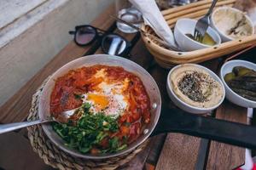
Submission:
{"label": "beige hummus topped with dark seeds, without its bowl", "polygon": [[189,105],[210,108],[224,97],[221,84],[195,65],[177,67],[170,78],[174,94]]}

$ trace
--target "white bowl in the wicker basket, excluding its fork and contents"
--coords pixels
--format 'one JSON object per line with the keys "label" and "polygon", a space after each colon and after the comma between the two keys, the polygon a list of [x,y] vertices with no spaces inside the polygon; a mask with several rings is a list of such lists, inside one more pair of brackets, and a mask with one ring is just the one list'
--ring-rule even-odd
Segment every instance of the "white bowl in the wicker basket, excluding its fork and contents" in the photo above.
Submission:
{"label": "white bowl in the wicker basket, excluding its fork and contents", "polygon": [[[174,28],[174,37],[179,48],[183,51],[194,51],[201,48],[212,47],[187,37],[185,34],[194,35],[196,20],[191,19],[181,19],[177,20]],[[218,32],[208,27],[207,33],[216,42],[215,46],[220,44],[221,39]]]}

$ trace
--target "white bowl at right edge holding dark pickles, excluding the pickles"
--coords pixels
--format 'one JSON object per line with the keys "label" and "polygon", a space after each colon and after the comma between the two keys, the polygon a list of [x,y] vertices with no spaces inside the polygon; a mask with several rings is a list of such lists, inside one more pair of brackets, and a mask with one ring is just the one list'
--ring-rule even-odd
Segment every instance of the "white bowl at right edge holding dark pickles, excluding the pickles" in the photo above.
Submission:
{"label": "white bowl at right edge holding dark pickles, excluding the pickles", "polygon": [[256,65],[245,61],[245,60],[240,60],[240,59],[235,59],[235,60],[230,60],[226,62],[224,65],[222,65],[220,72],[219,72],[219,77],[224,83],[225,91],[226,91],[226,98],[230,100],[230,102],[240,105],[242,107],[250,107],[250,108],[256,108],[256,101],[250,100],[250,99],[245,99],[241,97],[240,95],[236,94],[224,81],[224,76],[227,73],[230,73],[235,66],[245,66],[249,69],[253,69],[256,71]]}

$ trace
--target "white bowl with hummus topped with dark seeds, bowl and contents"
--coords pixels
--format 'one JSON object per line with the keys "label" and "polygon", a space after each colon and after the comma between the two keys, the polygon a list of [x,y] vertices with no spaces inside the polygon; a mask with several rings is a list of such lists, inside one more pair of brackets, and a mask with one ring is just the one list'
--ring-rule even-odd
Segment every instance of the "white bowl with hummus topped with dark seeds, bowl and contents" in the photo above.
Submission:
{"label": "white bowl with hummus topped with dark seeds, bowl and contents", "polygon": [[184,64],[172,68],[167,77],[167,92],[183,111],[202,114],[218,107],[225,96],[218,76],[201,65]]}

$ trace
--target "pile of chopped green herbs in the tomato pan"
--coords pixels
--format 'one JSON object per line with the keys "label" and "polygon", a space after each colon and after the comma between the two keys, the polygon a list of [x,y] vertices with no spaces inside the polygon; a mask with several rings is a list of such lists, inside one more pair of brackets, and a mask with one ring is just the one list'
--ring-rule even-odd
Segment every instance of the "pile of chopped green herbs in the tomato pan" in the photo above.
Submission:
{"label": "pile of chopped green herbs in the tomato pan", "polygon": [[[117,137],[110,138],[109,133],[119,130],[117,119],[107,116],[103,112],[90,113],[90,104],[85,103],[80,108],[82,116],[76,123],[72,121],[65,123],[53,123],[53,129],[62,139],[66,141],[68,147],[79,150],[81,153],[89,152],[96,147],[101,153],[115,152],[123,150],[126,144],[120,144]],[[101,142],[108,138],[108,148],[103,149]],[[102,149],[101,149],[102,148]]]}

